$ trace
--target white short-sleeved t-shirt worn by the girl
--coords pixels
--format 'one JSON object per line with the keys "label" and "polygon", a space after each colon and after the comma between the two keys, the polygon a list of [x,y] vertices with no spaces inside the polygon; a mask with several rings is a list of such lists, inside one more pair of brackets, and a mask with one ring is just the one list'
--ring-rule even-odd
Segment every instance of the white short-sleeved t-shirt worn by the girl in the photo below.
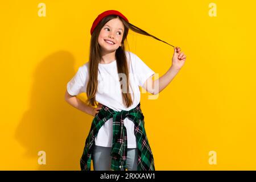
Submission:
{"label": "white short-sleeved t-shirt worn by the girl", "polygon": [[[126,107],[122,101],[122,90],[117,71],[117,61],[114,60],[109,64],[98,64],[98,90],[96,92],[96,101],[110,107],[115,111],[130,110],[136,107],[141,100],[139,86],[150,76],[154,75],[152,71],[137,55],[130,51],[125,51],[127,61],[130,62],[129,93],[133,100],[133,105]],[[130,60],[130,61],[129,61]],[[68,82],[67,91],[72,96],[86,93],[86,86],[89,78],[89,62],[79,67],[76,75]],[[124,88],[124,87],[123,87]],[[132,90],[131,90],[132,89]],[[134,93],[134,96],[133,96]],[[124,119],[124,125],[127,131],[127,148],[137,148],[134,134],[134,123],[129,118]],[[95,138],[97,146],[112,147],[113,139],[113,118],[110,118],[98,131]]]}

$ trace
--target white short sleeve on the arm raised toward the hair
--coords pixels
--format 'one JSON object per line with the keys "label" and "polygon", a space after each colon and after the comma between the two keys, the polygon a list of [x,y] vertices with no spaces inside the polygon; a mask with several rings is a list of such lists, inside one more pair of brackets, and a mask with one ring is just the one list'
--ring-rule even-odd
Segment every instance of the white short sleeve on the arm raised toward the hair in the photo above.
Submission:
{"label": "white short sleeve on the arm raised toward the hair", "polygon": [[134,70],[135,70],[135,76],[137,77],[139,86],[143,86],[144,82],[149,78],[150,76],[154,75],[155,72],[152,71],[137,55],[133,53],[133,56],[131,59],[134,59]]}

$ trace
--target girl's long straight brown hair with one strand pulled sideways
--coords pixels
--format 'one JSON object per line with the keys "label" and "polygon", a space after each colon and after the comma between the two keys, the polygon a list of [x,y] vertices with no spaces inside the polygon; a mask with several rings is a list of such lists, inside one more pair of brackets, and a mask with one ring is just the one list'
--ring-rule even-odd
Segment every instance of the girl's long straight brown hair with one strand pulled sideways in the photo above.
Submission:
{"label": "girl's long straight brown hair with one strand pulled sideways", "polygon": [[[98,44],[98,36],[100,35],[100,31],[101,28],[107,23],[109,22],[109,20],[114,19],[114,18],[119,18],[124,27],[125,27],[125,31],[123,32],[123,38],[122,38],[122,42],[121,42],[121,46],[118,47],[118,49],[115,51],[115,57],[117,60],[117,70],[118,70],[118,76],[119,76],[119,80],[121,78],[119,73],[123,73],[126,75],[126,82],[127,84],[125,84],[126,88],[125,90],[127,90],[127,92],[122,92],[122,98],[123,98],[123,103],[126,105],[126,107],[130,107],[133,104],[133,101],[131,99],[131,94],[129,92],[129,69],[128,69],[128,64],[127,64],[127,57],[125,55],[125,42],[127,42],[127,32],[128,30],[133,30],[134,32],[137,32],[138,34],[142,34],[142,35],[147,35],[147,36],[151,36],[152,38],[156,39],[156,40],[160,40],[158,38],[156,38],[155,36],[148,34],[146,31],[141,30],[141,28],[138,28],[136,26],[134,26],[133,24],[126,22],[124,19],[122,19],[120,16],[118,15],[109,15],[106,16],[105,18],[103,18],[101,20],[100,23],[98,23],[98,25],[96,26],[96,28],[94,29],[93,33],[92,33],[92,37],[90,39],[90,55],[89,55],[89,80],[88,80],[88,85],[86,88],[86,94],[88,99],[86,100],[87,104],[95,106],[96,105],[96,92],[97,92],[97,88],[98,88],[98,63],[100,63],[101,60],[101,49],[100,49],[100,45]],[[164,42],[163,40],[160,40],[162,42]],[[166,43],[166,42],[164,42]],[[168,44],[168,43],[166,43]],[[171,44],[169,44],[170,46],[172,46]],[[172,46],[174,47],[174,46]],[[122,86],[124,85],[120,85],[121,89],[123,90],[124,88],[122,88]]]}

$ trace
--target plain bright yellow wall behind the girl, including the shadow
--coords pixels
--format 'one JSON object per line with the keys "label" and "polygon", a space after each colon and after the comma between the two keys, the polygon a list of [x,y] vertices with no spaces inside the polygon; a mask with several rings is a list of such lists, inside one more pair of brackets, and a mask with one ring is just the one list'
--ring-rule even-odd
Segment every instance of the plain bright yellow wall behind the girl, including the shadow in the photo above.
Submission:
{"label": "plain bright yellow wall behind the girl, including the shadow", "polygon": [[[41,2],[46,17],[38,16]],[[212,2],[217,17],[208,15]],[[93,20],[110,9],[187,55],[158,99],[142,94],[156,170],[256,169],[253,1],[1,1],[0,8],[1,170],[80,170],[93,117],[64,93],[88,61]],[[159,76],[171,66],[167,44],[132,31],[128,43]]]}

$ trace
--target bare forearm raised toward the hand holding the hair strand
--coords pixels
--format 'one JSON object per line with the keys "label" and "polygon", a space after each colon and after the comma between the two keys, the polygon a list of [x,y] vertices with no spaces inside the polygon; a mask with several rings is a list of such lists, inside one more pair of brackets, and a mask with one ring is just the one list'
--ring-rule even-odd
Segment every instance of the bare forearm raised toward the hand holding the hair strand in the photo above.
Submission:
{"label": "bare forearm raised toward the hand holding the hair strand", "polygon": [[170,82],[174,79],[174,77],[179,73],[179,69],[175,69],[174,67],[170,67],[163,76],[154,81],[154,94],[160,93]]}

